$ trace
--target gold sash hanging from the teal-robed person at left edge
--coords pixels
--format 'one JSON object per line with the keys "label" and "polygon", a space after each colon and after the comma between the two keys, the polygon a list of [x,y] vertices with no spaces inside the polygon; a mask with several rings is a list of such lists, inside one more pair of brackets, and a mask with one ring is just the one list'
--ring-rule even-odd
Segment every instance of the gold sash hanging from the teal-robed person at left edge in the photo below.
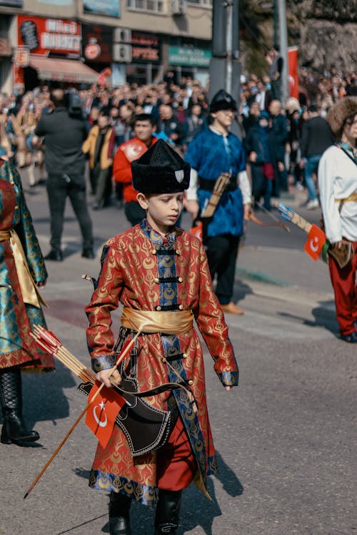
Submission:
{"label": "gold sash hanging from the teal-robed person at left edge", "polygon": [[34,307],[40,308],[40,302],[47,306],[46,301],[39,293],[37,286],[32,278],[27,264],[24,249],[16,230],[11,228],[10,230],[0,230],[0,242],[10,240],[12,254],[14,255],[15,267],[17,277],[19,278],[19,285],[21,288],[22,299],[28,305],[34,305]]}

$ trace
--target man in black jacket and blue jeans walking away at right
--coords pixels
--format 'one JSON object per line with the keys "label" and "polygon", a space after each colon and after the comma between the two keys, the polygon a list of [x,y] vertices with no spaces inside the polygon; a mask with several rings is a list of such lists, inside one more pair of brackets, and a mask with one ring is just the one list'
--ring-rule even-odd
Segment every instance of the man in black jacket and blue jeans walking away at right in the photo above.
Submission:
{"label": "man in black jacket and blue jeans walking away at right", "polygon": [[305,167],[305,182],[308,188],[306,208],[308,210],[314,210],[319,206],[313,173],[317,173],[318,162],[326,148],[331,145],[333,145],[333,136],[328,123],[318,113],[317,106],[309,106],[308,121],[303,125],[300,162],[301,167]]}

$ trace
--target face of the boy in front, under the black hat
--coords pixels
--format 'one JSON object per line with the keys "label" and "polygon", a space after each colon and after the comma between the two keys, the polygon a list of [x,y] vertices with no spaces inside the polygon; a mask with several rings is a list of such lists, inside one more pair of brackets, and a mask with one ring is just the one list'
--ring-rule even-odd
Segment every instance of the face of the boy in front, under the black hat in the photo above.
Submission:
{"label": "face of the boy in front, under the black hat", "polygon": [[183,192],[138,193],[138,202],[146,210],[146,218],[154,230],[166,234],[175,225],[183,207]]}

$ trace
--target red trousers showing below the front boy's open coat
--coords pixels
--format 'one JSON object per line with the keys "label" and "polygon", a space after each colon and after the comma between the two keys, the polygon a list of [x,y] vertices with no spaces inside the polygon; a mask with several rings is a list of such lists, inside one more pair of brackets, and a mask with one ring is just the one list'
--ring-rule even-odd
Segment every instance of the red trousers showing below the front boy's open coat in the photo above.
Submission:
{"label": "red trousers showing below the front boy's open coat", "polygon": [[156,464],[158,489],[178,491],[193,481],[196,459],[180,417],[165,446],[158,450]]}

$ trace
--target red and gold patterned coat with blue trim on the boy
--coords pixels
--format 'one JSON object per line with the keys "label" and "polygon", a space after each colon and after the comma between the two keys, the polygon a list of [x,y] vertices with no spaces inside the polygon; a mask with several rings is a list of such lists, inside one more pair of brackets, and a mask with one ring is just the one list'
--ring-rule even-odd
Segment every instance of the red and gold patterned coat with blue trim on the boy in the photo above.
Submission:
{"label": "red and gold patterned coat with blue trim on the boy", "polygon": [[[140,225],[109,240],[101,263],[98,286],[86,307],[88,345],[95,372],[115,363],[111,312],[120,301],[124,307],[136,310],[177,310],[178,314],[179,310],[192,310],[222,384],[238,384],[238,367],[228,328],[212,289],[200,240],[178,228],[163,238],[143,220]],[[172,360],[174,374],[160,357]],[[192,328],[178,335],[141,335],[136,362],[139,390],[177,382],[177,374],[191,385],[198,406],[195,414],[187,398],[181,397],[181,389],[174,392],[196,457],[195,481],[205,491],[206,476],[216,472],[216,457],[198,333]],[[167,409],[169,395],[164,392],[147,400],[154,407]],[[156,453],[133,458],[124,434],[115,426],[106,448],[98,445],[89,484],[96,489],[124,493],[143,503],[153,502],[156,500]]]}

